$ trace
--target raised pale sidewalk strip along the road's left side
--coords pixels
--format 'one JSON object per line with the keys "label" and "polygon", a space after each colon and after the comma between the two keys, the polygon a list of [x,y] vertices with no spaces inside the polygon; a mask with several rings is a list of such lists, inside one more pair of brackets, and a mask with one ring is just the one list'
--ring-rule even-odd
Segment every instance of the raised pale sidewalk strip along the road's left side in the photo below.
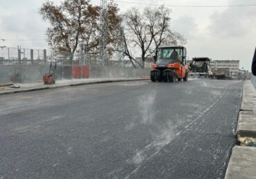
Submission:
{"label": "raised pale sidewalk strip along the road's left side", "polygon": [[61,80],[56,81],[54,85],[44,85],[43,82],[39,83],[24,83],[24,84],[15,84],[19,88],[12,87],[0,87],[1,94],[12,94],[17,92],[30,92],[40,89],[53,89],[57,87],[68,87],[75,85],[89,85],[95,83],[113,83],[113,82],[122,82],[122,81],[143,81],[149,80],[148,77],[143,78],[83,78],[83,79],[72,79],[72,80]]}

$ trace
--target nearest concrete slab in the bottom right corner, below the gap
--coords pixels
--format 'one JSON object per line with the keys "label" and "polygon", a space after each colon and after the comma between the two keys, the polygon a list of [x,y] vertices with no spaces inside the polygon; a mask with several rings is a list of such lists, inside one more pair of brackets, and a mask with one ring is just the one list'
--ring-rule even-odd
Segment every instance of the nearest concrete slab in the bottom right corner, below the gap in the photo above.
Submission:
{"label": "nearest concrete slab in the bottom right corner, below the gap", "polygon": [[256,147],[233,147],[225,178],[256,178]]}

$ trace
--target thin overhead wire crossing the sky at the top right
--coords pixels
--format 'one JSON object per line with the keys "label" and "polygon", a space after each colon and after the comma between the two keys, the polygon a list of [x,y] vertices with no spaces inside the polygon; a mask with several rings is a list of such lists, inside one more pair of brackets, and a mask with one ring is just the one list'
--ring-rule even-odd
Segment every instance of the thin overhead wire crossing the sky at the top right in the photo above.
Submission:
{"label": "thin overhead wire crossing the sky at the top right", "polygon": [[[129,2],[129,1],[116,1],[118,3],[131,3],[131,4],[138,4],[138,5],[144,5],[144,6],[161,6],[161,4],[155,4],[155,3],[136,3],[136,2]],[[250,7],[250,6],[256,6],[256,4],[242,4],[242,5],[224,5],[224,6],[188,6],[188,5],[165,5],[168,7],[177,7],[177,8],[235,8],[235,7]]]}

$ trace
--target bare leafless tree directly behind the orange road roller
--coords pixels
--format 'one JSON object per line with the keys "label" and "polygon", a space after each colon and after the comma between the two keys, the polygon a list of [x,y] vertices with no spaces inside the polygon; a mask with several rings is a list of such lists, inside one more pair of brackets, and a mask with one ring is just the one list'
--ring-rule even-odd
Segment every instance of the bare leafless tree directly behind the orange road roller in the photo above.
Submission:
{"label": "bare leafless tree directly behind the orange road roller", "polygon": [[139,48],[142,59],[142,65],[140,66],[145,67],[145,60],[152,54],[157,56],[158,48],[161,45],[186,43],[181,34],[170,30],[172,20],[170,14],[171,9],[165,6],[154,9],[146,7],[143,13],[140,13],[136,8],[131,8],[125,13],[124,54],[128,56],[132,63],[135,62],[134,54],[131,54],[131,51],[135,50],[131,50],[132,48]]}

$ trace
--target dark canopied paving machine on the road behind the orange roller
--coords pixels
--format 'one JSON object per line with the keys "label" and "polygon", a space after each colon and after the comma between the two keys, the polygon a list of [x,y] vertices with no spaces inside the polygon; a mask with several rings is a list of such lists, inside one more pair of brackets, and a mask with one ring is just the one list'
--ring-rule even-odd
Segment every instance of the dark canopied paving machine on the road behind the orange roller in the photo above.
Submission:
{"label": "dark canopied paving machine on the road behind the orange roller", "polygon": [[194,57],[190,63],[190,73],[192,77],[213,77],[208,57]]}

